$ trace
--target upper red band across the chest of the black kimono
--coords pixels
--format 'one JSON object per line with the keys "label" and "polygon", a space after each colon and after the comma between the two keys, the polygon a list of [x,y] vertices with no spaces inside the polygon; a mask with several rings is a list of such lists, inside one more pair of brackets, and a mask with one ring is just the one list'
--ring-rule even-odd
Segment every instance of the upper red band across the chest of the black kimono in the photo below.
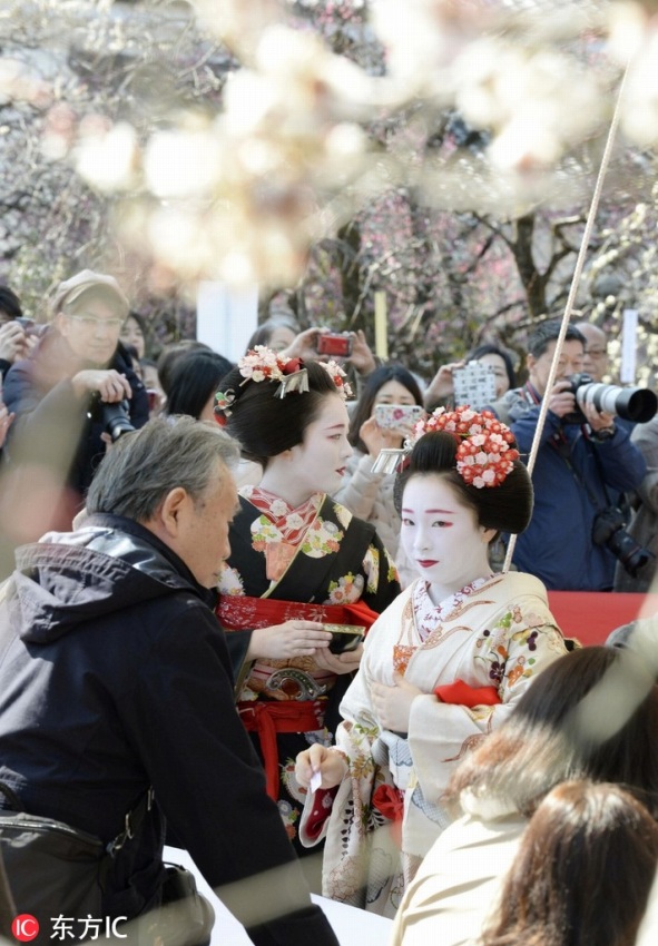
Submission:
{"label": "upper red band across the chest of the black kimono", "polygon": [[366,630],[380,617],[365,603],[314,604],[305,601],[277,601],[246,594],[223,594],[216,611],[226,631],[268,628],[286,621],[318,621],[323,624],[355,624]]}

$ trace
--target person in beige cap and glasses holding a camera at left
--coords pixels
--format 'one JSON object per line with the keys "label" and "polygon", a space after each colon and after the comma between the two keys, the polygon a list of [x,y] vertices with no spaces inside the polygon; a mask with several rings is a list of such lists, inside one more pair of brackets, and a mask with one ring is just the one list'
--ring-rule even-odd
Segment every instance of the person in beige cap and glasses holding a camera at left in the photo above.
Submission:
{"label": "person in beige cap and glasses holding a camera at left", "polygon": [[[4,380],[16,414],[2,461],[17,477],[52,482],[52,518],[70,528],[108,445],[148,420],[148,398],[119,342],[128,300],[112,276],[85,269],[60,283],[50,324]],[[27,536],[21,536],[27,538]]]}

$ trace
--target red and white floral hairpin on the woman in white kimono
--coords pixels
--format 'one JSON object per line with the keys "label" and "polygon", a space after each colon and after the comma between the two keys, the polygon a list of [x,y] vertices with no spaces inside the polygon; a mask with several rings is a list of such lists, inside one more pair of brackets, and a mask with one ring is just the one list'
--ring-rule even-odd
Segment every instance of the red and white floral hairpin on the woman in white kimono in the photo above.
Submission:
{"label": "red and white floral hairpin on the woman in white kimono", "polygon": [[511,446],[514,435],[492,411],[473,411],[468,405],[446,411],[438,407],[419,421],[406,441],[410,449],[431,431],[445,431],[454,436],[456,471],[469,485],[499,486],[514,469],[519,451]]}

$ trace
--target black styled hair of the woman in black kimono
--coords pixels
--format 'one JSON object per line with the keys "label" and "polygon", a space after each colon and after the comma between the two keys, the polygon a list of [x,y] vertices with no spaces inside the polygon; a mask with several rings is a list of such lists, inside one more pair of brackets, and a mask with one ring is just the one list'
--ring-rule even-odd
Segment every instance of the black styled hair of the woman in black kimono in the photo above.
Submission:
{"label": "black styled hair of the woman in black kimono", "polygon": [[219,391],[235,395],[226,412],[226,431],[242,445],[243,456],[263,469],[277,456],[304,440],[306,427],[315,421],[328,394],[340,394],[322,365],[304,362],[308,391],[292,391],[277,396],[278,381],[245,381],[239,368],[230,371]]}

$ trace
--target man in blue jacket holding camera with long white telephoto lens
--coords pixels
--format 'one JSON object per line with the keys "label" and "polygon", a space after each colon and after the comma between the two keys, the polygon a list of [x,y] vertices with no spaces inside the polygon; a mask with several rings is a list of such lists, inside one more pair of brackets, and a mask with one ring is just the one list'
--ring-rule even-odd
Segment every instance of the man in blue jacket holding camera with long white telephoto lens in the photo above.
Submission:
{"label": "man in blue jacket holding camera with long white telephoto lens", "polygon": [[532,472],[534,510],[515,542],[513,563],[540,578],[549,590],[610,591],[616,558],[595,542],[595,520],[635,490],[646,472],[630,427],[612,414],[585,405],[578,418],[571,376],[583,368],[583,335],[569,327],[556,382],[547,383],[560,323],[542,323],[528,342],[528,381],[492,405],[511,427],[527,462],[543,397],[549,398]]}

